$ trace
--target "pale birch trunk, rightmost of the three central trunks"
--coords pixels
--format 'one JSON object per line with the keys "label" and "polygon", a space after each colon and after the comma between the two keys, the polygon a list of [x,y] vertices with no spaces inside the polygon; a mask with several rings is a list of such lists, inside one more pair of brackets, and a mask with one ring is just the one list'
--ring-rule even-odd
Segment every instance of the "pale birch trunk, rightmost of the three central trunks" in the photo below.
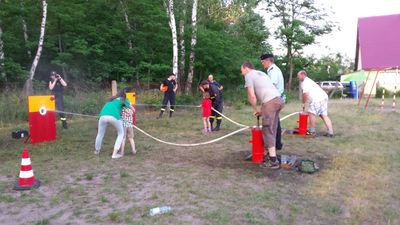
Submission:
{"label": "pale birch trunk, rightmost of the three central trunks", "polygon": [[197,1],[198,0],[193,0],[192,8],[192,41],[190,42],[189,73],[186,81],[186,93],[189,93],[192,88],[194,74],[194,60],[197,43]]}

